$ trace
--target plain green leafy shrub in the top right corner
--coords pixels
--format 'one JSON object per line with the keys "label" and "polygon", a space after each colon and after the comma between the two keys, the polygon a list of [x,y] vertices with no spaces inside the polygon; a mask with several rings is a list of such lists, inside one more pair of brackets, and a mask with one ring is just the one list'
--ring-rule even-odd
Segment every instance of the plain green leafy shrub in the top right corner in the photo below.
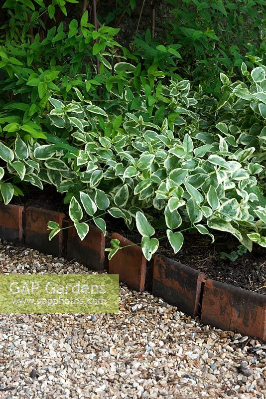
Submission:
{"label": "plain green leafy shrub in the top right corner", "polygon": [[167,43],[180,46],[179,73],[209,93],[219,92],[220,72],[239,77],[243,61],[251,67],[265,57],[264,0],[167,1],[174,18],[168,22]]}

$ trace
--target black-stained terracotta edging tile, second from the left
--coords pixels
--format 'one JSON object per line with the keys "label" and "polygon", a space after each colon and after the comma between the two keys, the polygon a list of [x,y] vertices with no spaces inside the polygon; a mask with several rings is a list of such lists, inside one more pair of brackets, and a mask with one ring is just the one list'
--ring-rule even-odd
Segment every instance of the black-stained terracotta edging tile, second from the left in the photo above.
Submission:
{"label": "black-stained terracotta edging tile, second from the left", "polygon": [[51,241],[49,241],[49,230],[47,230],[47,223],[49,220],[53,220],[59,223],[59,227],[62,228],[64,217],[65,214],[62,212],[29,206],[26,209],[26,245],[55,257],[62,256],[62,230],[55,237],[53,237]]}

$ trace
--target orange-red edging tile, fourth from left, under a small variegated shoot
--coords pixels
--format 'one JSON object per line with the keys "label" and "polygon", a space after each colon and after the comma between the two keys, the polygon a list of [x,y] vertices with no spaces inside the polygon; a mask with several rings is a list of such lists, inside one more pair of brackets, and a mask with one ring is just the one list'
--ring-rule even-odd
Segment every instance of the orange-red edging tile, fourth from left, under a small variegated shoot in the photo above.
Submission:
{"label": "orange-red edging tile, fourth from left, under a small variegated shoot", "polygon": [[[112,239],[117,238],[120,246],[132,245],[133,242],[127,240],[118,233],[112,235]],[[109,273],[119,274],[120,282],[136,291],[144,291],[146,275],[146,259],[138,245],[132,245],[120,249],[109,261]]]}

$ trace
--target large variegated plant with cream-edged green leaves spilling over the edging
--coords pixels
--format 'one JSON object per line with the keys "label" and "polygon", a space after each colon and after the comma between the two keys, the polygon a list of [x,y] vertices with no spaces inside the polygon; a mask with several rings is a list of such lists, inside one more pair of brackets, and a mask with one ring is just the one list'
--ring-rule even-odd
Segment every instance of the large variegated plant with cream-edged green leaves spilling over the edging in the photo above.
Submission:
{"label": "large variegated plant with cream-edged green leaves spilling over the edging", "polygon": [[[191,92],[187,80],[114,91],[101,107],[50,99],[50,121],[64,133],[29,154],[37,179],[66,193],[81,239],[89,221],[106,233],[108,212],[136,225],[147,259],[159,245],[158,218],[175,253],[187,230],[266,246],[266,68],[242,69],[247,83],[221,74],[219,102]],[[60,231],[55,222],[48,228],[50,239]],[[112,245],[110,258],[120,249]]]}

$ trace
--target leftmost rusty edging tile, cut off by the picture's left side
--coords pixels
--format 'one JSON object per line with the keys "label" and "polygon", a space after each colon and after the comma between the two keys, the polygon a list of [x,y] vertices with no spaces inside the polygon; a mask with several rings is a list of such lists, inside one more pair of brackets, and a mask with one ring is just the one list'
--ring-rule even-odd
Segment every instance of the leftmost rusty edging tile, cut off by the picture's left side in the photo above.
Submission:
{"label": "leftmost rusty edging tile, cut off by the picture's left side", "polygon": [[22,205],[0,203],[0,238],[23,243],[23,211]]}

